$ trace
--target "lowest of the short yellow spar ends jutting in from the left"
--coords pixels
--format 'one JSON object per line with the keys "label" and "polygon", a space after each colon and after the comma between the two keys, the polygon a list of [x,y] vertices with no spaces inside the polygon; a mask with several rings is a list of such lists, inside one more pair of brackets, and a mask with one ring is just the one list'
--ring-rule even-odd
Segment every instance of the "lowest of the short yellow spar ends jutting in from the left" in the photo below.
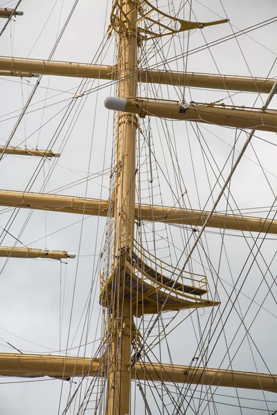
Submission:
{"label": "lowest of the short yellow spar ends jutting in from the left", "polygon": [[55,251],[34,248],[17,248],[14,246],[0,246],[0,257],[62,259],[75,258],[75,254],[71,254],[64,250]]}

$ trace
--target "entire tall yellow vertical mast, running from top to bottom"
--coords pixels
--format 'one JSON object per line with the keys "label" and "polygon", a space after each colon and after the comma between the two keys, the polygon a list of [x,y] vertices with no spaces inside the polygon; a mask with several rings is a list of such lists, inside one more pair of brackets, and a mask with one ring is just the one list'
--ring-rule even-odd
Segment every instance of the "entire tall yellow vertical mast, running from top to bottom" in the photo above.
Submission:
{"label": "entire tall yellow vertical mast, running from top to bottom", "polygon": [[[136,96],[137,80],[137,1],[118,2],[118,98]],[[124,250],[132,250],[135,210],[135,166],[136,166],[137,118],[133,114],[119,112],[116,131],[116,183],[114,191],[114,274],[115,284],[120,284],[124,275],[117,258]],[[124,276],[123,276],[124,281]],[[110,327],[112,330],[109,349],[108,415],[129,414],[131,376],[132,304],[124,299],[118,289],[117,298],[111,304]]]}

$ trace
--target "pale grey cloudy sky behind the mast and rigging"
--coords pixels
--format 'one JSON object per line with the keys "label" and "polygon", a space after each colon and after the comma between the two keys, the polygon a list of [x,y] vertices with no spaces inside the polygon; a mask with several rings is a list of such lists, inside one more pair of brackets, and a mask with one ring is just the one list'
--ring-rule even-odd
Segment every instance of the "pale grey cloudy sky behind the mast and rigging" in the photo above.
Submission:
{"label": "pale grey cloudy sky behind the mast and rigging", "polygon": [[[75,2],[72,0],[48,0],[47,2],[23,0],[19,9],[24,11],[24,16],[12,21],[1,36],[1,55],[48,59],[73,3]],[[183,3],[181,6],[184,6]],[[271,19],[277,11],[274,0],[262,2],[212,0],[201,3],[193,0],[192,3],[194,14],[191,17],[192,20],[210,21],[227,17],[232,26],[225,24],[196,31],[191,33],[189,39],[187,35],[179,35],[171,43],[168,43],[168,39],[164,37],[157,45],[157,52],[152,48],[152,44],[148,44],[143,53],[141,52],[141,57],[147,55],[149,65],[159,64],[165,59],[175,57],[182,50],[193,50],[197,46],[208,44],[242,28]],[[153,4],[155,6],[158,4],[162,10],[170,13],[177,13],[180,8],[179,1],[155,1]],[[15,3],[10,1],[2,3],[1,7],[14,5]],[[116,62],[114,39],[111,38],[104,48],[101,43],[109,25],[110,10],[111,1],[79,0],[52,59],[114,64]],[[188,19],[188,14],[189,8],[186,4],[181,9],[179,18]],[[4,21],[0,23],[3,25]],[[276,77],[277,65],[273,66],[277,53],[276,28],[276,23],[270,24],[248,35],[222,42],[213,48],[206,48],[201,53],[189,55],[188,59],[172,62],[170,67],[172,70],[179,69],[180,71],[187,68],[188,71],[202,73]],[[163,54],[160,46],[163,46]],[[102,48],[100,55],[99,47]],[[167,63],[165,67],[168,68]],[[35,80],[1,77],[0,82],[0,140],[3,145],[8,140],[20,110],[33,90]],[[61,151],[62,156],[59,160],[46,160],[44,165],[37,158],[6,156],[1,160],[0,166],[1,189],[55,191],[60,194],[108,199],[109,168],[113,146],[113,115],[105,109],[103,101],[108,95],[115,95],[115,86],[98,89],[103,81],[89,80],[84,88],[94,88],[93,91],[87,95],[87,98],[78,100],[63,128],[60,129],[62,117],[68,111],[69,104],[81,82],[82,80],[77,78],[42,77],[28,114],[17,129],[11,144],[22,143],[21,147],[26,144],[28,148],[44,149],[51,140],[52,142],[55,140],[53,149]],[[139,91],[141,96],[155,96],[156,98],[158,96],[172,100],[179,100],[184,92],[181,88],[155,88],[142,85]],[[251,107],[257,98],[251,93],[231,93],[230,95],[226,91],[188,88],[185,90],[187,102],[190,100],[195,102],[222,100],[221,102],[225,104],[234,103]],[[276,108],[276,104],[276,99],[274,99],[270,107]],[[261,98],[258,98],[256,106],[262,106]],[[142,124],[142,129],[147,128],[147,122],[148,120]],[[177,122],[174,125],[172,122],[166,123],[160,120],[150,120],[150,122],[152,149],[157,158],[157,162],[152,161],[154,184],[157,185],[154,203],[179,206],[181,194],[185,193],[184,203],[187,206],[192,205],[193,208],[198,209],[206,205],[206,210],[211,208],[213,198],[217,196],[220,185],[223,183],[221,178],[220,185],[215,186],[213,197],[208,199],[219,170],[223,169],[226,164],[222,172],[226,178],[231,167],[232,158],[229,154],[235,139],[238,138],[235,130],[203,124],[195,132],[192,125],[184,122]],[[276,205],[274,203],[277,189],[276,146],[274,145],[276,136],[273,133],[258,133],[257,136],[259,138],[253,139],[252,147],[247,149],[247,157],[244,157],[233,176],[232,198],[229,198],[229,205],[226,205],[226,199],[222,198],[219,210],[235,210],[239,207],[244,214],[253,212],[255,215],[254,212],[257,212],[256,216],[267,216],[268,207],[272,204]],[[235,147],[236,150],[240,149],[245,138],[245,133],[242,133]],[[138,142],[141,142],[143,147],[141,137],[138,138]],[[143,164],[143,157],[148,160],[148,154],[145,151],[144,146],[141,151],[141,164]],[[236,154],[238,153],[235,151],[235,156]],[[37,169],[39,173],[34,176]],[[98,172],[100,174],[96,174]],[[84,180],[79,185],[72,185],[74,181],[86,179],[89,174],[96,175],[92,176],[89,181]],[[145,196],[145,199],[141,200],[143,203],[151,203],[148,174],[149,160],[141,167],[141,177],[143,180],[146,179],[141,185],[141,194]],[[274,214],[273,210],[271,217]],[[3,208],[0,226],[1,232],[3,230],[1,234],[3,246],[12,246],[18,239],[17,246],[23,244],[31,248],[68,250],[77,255],[76,259],[68,260],[68,264],[65,264],[66,261],[60,263],[43,259],[1,260],[0,351],[16,353],[15,349],[8,344],[10,343],[24,353],[59,354],[64,353],[66,348],[78,347],[88,342],[86,348],[80,348],[80,355],[92,356],[98,346],[98,342],[93,341],[102,335],[101,310],[98,304],[101,269],[99,254],[105,238],[105,219],[29,210],[14,212],[14,210]],[[5,229],[9,229],[9,234],[4,231]],[[151,225],[149,225],[149,230],[152,231]],[[188,237],[186,231],[165,225],[157,225],[155,230],[161,255],[170,257],[173,264],[177,264],[177,261],[180,261],[180,264],[184,263],[186,252],[182,255],[182,251],[184,241]],[[268,288],[274,283],[274,276],[276,276],[275,237],[271,235],[262,244],[257,262],[253,266],[249,259],[246,268],[243,268],[249,250],[255,245],[255,240],[250,234],[244,236],[230,231],[224,236],[224,245],[222,245],[222,235],[218,230],[206,232],[203,240],[205,249],[195,252],[194,262],[190,264],[195,272],[202,270],[202,266],[208,268],[209,261],[205,257],[205,253],[208,253],[214,267],[214,275],[211,269],[206,270],[211,292],[215,292],[213,277],[218,277],[222,308],[228,301],[234,282],[238,277],[241,277],[241,281],[247,276],[236,302],[236,311],[231,311],[230,305],[226,308],[226,314],[229,311],[231,314],[226,322],[225,335],[222,335],[220,341],[217,342],[215,353],[211,356],[208,365],[228,367],[230,357],[224,358],[224,355],[226,344],[229,346],[231,344],[229,353],[233,359],[233,369],[267,372],[267,365],[270,365],[271,373],[277,373],[274,347],[276,344],[274,331],[276,285],[271,288],[271,293]],[[253,234],[253,237],[257,235]],[[259,239],[258,243],[260,242]],[[172,248],[173,245],[175,249]],[[202,262],[202,266],[199,262]],[[271,264],[268,271],[269,263]],[[261,281],[263,281],[262,286],[260,286]],[[253,297],[255,304],[251,303]],[[89,306],[88,299],[91,299]],[[242,315],[246,313],[249,304],[251,308],[244,323],[247,327],[251,326],[253,343],[247,337],[240,346],[245,335],[244,326],[240,327],[235,341],[231,342],[240,324],[240,313]],[[260,305],[263,308],[260,308]],[[184,324],[168,336],[173,362],[190,364],[197,352],[201,330],[208,322],[211,312],[206,309],[199,311],[198,315],[194,313],[193,317],[188,317]],[[257,317],[255,317],[256,313],[258,313]],[[222,317],[221,324],[224,323],[226,314]],[[175,320],[176,324],[187,315],[188,311],[179,313]],[[172,314],[166,317],[172,318]],[[255,320],[253,320],[254,317]],[[172,323],[173,326],[175,323]],[[159,359],[163,362],[170,362],[168,344],[163,344],[161,349],[157,348],[156,351],[160,353],[157,355]],[[77,353],[78,349],[69,351],[72,355],[77,355]],[[72,393],[76,387],[73,383],[48,378],[36,381],[1,378],[0,382],[0,414],[5,415],[61,413],[69,393]],[[217,394],[221,393],[235,396],[236,392],[230,389],[217,389]],[[264,399],[262,392],[239,391],[239,393],[244,397]],[[268,400],[274,400],[274,394],[267,393],[265,396]],[[139,399],[137,398],[137,402],[140,402]],[[214,400],[220,400],[220,397],[215,396]],[[232,400],[231,398],[221,400],[235,405],[239,402],[238,399]],[[152,413],[158,413],[150,392],[149,401],[152,405]],[[197,399],[195,402],[197,403]],[[277,409],[277,403],[267,406],[263,402],[253,403],[240,400],[240,404],[246,407],[260,405],[260,411],[265,410],[260,413],[274,412]],[[75,405],[69,413],[77,412],[78,402]],[[267,412],[268,408],[269,412]],[[209,409],[211,414],[215,413],[212,406]],[[243,409],[240,412],[238,407],[230,409],[224,405],[217,405],[217,409],[219,412],[224,410],[228,414],[253,413],[251,409]],[[171,414],[172,407],[169,406],[168,411]],[[199,414],[202,412],[209,413],[205,405],[199,410]],[[139,405],[134,409],[134,414],[144,414]]]}

